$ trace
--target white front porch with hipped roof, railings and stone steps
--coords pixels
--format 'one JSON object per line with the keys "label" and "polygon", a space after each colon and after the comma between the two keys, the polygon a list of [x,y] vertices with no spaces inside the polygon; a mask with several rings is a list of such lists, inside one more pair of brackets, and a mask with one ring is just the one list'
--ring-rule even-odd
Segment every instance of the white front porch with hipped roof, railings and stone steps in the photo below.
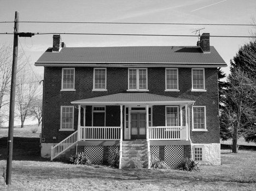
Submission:
{"label": "white front porch with hipped roof, railings and stone steps", "polygon": [[[183,158],[184,146],[191,145],[188,107],[193,103],[194,101],[191,100],[149,93],[119,93],[77,100],[72,102],[78,107],[77,132],[72,134],[72,140],[66,140],[66,145],[63,140],[59,148],[57,145],[52,148],[52,158],[63,150],[60,147],[70,147],[70,142],[75,142],[77,151],[81,148],[84,151],[89,149],[90,153],[100,153],[100,156],[104,155],[105,147],[109,151],[116,147],[119,150],[119,168],[124,168],[125,163],[130,166],[131,163],[135,163],[136,159],[133,158],[135,153],[127,150],[132,151],[134,150],[132,147],[136,146],[127,146],[127,141],[136,142],[136,140],[142,140],[144,144],[137,144],[140,145],[138,149],[141,152],[143,150],[143,154],[141,153],[142,158],[138,158],[136,162],[138,164],[139,161],[144,161],[143,168],[147,164],[147,168],[150,169],[150,154],[168,160],[170,158],[168,154],[179,153]],[[158,111],[157,107],[165,110]],[[160,120],[163,115],[164,120]],[[115,124],[115,126],[107,126],[107,124]],[[124,159],[122,159],[123,154]]]}

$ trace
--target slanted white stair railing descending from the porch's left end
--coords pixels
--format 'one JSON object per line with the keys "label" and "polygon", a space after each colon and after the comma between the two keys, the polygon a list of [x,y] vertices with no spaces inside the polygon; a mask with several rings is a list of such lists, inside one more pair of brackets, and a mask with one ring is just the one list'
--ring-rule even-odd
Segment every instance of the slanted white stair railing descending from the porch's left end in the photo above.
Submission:
{"label": "slanted white stair railing descending from the porch's left end", "polygon": [[69,135],[66,139],[59,142],[59,144],[51,147],[51,160],[59,156],[61,153],[65,152],[68,148],[73,146],[78,141],[78,132],[74,132]]}

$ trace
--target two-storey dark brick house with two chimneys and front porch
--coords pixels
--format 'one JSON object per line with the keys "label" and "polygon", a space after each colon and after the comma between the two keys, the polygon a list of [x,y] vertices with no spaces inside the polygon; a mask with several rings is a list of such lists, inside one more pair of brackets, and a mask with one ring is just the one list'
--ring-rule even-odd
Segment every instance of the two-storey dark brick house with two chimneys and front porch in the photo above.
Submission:
{"label": "two-storey dark brick house with two chimneys and front porch", "polygon": [[172,167],[184,157],[220,164],[218,68],[203,33],[197,46],[53,47],[44,67],[42,157],[85,151],[94,163],[118,151],[119,168]]}

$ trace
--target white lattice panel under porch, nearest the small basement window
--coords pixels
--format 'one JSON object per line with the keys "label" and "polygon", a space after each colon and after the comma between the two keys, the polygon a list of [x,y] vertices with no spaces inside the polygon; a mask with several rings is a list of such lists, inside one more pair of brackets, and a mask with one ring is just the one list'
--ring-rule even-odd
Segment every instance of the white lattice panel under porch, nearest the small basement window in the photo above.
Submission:
{"label": "white lattice panel under porch, nearest the small basement window", "polygon": [[165,163],[176,168],[179,163],[182,162],[184,158],[184,146],[182,145],[168,145],[165,146]]}

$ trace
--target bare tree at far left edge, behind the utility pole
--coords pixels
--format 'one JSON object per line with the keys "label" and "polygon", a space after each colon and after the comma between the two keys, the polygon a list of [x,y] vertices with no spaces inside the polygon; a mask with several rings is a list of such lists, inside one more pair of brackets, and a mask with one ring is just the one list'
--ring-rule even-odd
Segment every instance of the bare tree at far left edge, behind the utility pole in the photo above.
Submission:
{"label": "bare tree at far left edge, behind the utility pole", "polygon": [[[25,65],[23,58],[24,54],[19,53],[17,72]],[[0,126],[7,120],[12,63],[13,46],[8,43],[0,44]]]}

